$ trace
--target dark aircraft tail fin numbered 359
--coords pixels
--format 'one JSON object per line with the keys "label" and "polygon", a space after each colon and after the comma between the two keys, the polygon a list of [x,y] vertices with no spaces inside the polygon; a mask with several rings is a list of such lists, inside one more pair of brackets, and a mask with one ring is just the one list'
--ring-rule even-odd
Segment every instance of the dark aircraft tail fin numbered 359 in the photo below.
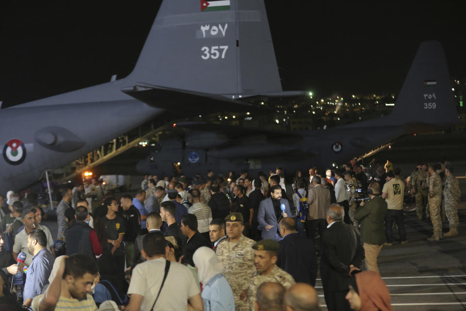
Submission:
{"label": "dark aircraft tail fin numbered 359", "polygon": [[438,41],[424,41],[389,115],[390,124],[458,122],[447,61]]}

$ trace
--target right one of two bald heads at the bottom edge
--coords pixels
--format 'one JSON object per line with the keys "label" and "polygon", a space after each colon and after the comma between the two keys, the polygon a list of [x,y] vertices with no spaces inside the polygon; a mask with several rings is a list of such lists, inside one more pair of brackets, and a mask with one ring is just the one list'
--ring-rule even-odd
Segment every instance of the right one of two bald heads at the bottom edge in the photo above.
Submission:
{"label": "right one of two bald heads at the bottom edge", "polygon": [[309,284],[296,283],[283,297],[284,311],[320,311],[317,292]]}

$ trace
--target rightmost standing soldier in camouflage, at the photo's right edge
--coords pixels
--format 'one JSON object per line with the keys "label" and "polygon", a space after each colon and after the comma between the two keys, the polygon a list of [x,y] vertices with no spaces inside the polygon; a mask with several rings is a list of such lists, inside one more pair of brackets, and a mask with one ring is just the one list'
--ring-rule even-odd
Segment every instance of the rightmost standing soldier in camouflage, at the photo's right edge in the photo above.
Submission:
{"label": "rightmost standing soldier in camouflage, at the photo's right edge", "polygon": [[450,225],[449,232],[445,233],[444,237],[454,237],[458,235],[458,202],[460,202],[461,190],[458,179],[453,176],[453,168],[445,166],[445,188],[443,189],[443,202],[445,213],[447,214]]}

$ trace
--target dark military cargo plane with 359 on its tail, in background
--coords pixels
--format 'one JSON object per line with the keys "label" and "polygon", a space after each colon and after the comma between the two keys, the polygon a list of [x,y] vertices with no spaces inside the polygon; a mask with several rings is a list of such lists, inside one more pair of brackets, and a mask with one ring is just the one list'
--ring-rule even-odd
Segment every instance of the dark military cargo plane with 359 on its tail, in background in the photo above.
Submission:
{"label": "dark military cargo plane with 359 on its tail, in background", "polygon": [[191,131],[182,139],[162,141],[160,150],[139,161],[137,169],[169,175],[176,166],[191,176],[207,169],[223,173],[248,169],[253,173],[283,166],[290,173],[314,166],[333,168],[388,146],[402,135],[457,122],[443,48],[437,41],[425,41],[388,116],[300,132],[177,123]]}

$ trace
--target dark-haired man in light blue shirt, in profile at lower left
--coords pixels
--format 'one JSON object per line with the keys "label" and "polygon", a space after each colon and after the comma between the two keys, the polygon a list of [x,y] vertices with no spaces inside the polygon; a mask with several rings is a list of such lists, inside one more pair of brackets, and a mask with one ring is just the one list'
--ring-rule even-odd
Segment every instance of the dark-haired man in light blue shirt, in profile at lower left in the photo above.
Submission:
{"label": "dark-haired man in light blue shirt, in profile at lower left", "polygon": [[24,284],[23,304],[31,306],[33,298],[41,293],[45,285],[49,284],[55,257],[47,250],[47,238],[44,231],[33,230],[28,236],[28,253],[33,260],[28,269],[28,277]]}

